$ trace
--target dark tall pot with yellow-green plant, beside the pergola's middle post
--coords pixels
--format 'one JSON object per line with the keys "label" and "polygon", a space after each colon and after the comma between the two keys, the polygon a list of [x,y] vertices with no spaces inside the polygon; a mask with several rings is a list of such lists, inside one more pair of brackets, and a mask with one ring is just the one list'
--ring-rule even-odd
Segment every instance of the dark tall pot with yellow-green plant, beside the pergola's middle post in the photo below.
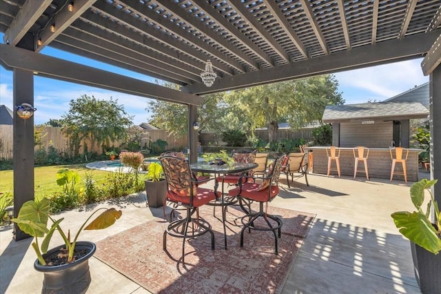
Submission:
{"label": "dark tall pot with yellow-green plant, beside the pergola's middle post", "polygon": [[145,193],[150,207],[158,208],[164,205],[167,195],[167,181],[163,178],[163,166],[152,162],[147,170],[145,180]]}

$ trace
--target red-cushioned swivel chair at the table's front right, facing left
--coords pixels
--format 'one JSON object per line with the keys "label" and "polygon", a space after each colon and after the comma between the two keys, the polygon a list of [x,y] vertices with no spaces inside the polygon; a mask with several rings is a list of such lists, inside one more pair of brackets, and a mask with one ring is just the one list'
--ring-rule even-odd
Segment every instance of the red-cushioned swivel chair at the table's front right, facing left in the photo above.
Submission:
{"label": "red-cushioned swivel chair at the table's front right, facing left", "polygon": [[[248,213],[241,218],[243,223],[242,231],[240,231],[240,247],[243,247],[243,233],[248,228],[249,231],[272,231],[276,240],[275,253],[278,254],[278,238],[281,237],[280,228],[282,227],[282,219],[276,215],[267,214],[268,202],[271,202],[274,197],[278,195],[278,178],[280,177],[280,171],[282,170],[283,161],[285,161],[286,155],[280,156],[274,160],[273,164],[268,170],[267,175],[263,178],[263,182],[260,184],[245,182],[238,182],[238,187],[229,190],[229,195],[238,195],[238,197],[255,201],[259,203],[259,211],[254,213]],[[265,204],[265,210],[263,210],[263,204]],[[259,217],[263,217],[267,226],[255,226],[255,222]],[[272,219],[272,222],[270,221]],[[276,234],[276,231],[278,234]]]}

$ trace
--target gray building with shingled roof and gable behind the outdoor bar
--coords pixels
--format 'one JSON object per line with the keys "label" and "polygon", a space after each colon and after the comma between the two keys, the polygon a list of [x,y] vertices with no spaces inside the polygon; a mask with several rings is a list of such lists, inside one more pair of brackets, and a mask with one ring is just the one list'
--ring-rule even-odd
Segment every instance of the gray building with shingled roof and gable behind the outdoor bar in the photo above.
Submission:
{"label": "gray building with shingled roof and gable behind the outdoor bar", "polygon": [[340,147],[409,147],[409,119],[429,115],[429,83],[377,103],[327,106],[322,121],[332,124]]}

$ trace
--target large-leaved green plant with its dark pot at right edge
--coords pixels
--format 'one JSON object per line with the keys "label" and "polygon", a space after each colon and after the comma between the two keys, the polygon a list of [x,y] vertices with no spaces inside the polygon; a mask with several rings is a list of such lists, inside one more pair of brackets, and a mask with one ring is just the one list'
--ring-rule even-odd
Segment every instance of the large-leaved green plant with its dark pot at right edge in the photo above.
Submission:
{"label": "large-leaved green plant with its dark pot at right edge", "polygon": [[[422,179],[411,186],[410,195],[416,211],[398,211],[391,217],[400,233],[411,242],[415,277],[422,293],[441,293],[441,214],[440,206],[431,193],[437,179]],[[424,211],[424,192],[430,199]],[[433,222],[431,221],[433,211]]]}

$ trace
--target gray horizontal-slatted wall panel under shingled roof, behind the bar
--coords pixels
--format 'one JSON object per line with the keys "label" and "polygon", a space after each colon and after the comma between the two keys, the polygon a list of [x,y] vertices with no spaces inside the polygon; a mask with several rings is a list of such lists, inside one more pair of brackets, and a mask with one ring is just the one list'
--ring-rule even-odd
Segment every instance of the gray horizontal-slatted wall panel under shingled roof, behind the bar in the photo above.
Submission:
{"label": "gray horizontal-slatted wall panel under shingled roof, behind the bar", "polygon": [[375,124],[361,124],[361,121],[341,123],[340,147],[389,148],[392,132],[392,121],[375,121]]}

